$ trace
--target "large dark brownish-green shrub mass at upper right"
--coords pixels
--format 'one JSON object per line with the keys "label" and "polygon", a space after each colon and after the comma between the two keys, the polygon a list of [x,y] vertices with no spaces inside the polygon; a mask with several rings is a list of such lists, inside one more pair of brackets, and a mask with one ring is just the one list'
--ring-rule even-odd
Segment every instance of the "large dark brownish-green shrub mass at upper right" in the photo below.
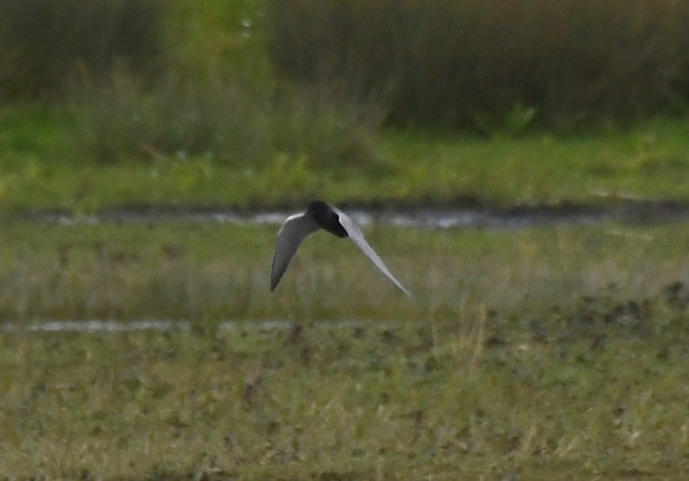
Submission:
{"label": "large dark brownish-green shrub mass at upper right", "polygon": [[270,53],[297,82],[388,92],[390,120],[569,129],[689,99],[689,3],[273,0]]}

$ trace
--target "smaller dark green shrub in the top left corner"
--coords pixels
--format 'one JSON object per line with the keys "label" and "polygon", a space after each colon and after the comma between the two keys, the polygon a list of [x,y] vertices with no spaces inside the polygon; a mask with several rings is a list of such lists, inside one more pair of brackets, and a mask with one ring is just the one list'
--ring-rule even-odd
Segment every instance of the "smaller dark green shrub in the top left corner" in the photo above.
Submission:
{"label": "smaller dark green shrub in the top left corner", "polygon": [[0,0],[0,95],[51,96],[76,75],[159,66],[158,0]]}

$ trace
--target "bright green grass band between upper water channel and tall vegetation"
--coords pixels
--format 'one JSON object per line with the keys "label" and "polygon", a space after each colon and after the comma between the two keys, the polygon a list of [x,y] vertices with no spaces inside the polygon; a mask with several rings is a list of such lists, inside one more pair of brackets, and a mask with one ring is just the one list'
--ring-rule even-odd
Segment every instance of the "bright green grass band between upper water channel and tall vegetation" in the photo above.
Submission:
{"label": "bright green grass band between upper water channel and tall vegetation", "polygon": [[689,123],[627,131],[492,140],[384,132],[380,161],[342,166],[277,155],[260,165],[214,157],[131,159],[99,165],[73,148],[65,109],[0,111],[0,209],[90,212],[126,204],[301,205],[341,201],[605,204],[617,198],[689,200]]}

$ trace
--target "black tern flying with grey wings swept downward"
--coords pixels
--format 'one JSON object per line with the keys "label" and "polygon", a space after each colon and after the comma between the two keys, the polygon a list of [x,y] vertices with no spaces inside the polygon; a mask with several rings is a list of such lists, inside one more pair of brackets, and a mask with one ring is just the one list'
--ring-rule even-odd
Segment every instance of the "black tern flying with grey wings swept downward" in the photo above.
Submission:
{"label": "black tern flying with grey wings swept downward", "polygon": [[280,282],[282,275],[285,274],[287,266],[290,265],[290,260],[294,257],[294,253],[297,252],[304,238],[310,233],[318,231],[319,228],[341,238],[350,238],[358,248],[363,250],[363,253],[375,264],[375,267],[380,269],[388,279],[394,282],[404,294],[407,294],[407,296],[411,295],[395,279],[395,276],[387,269],[382,259],[375,253],[375,250],[368,245],[359,226],[337,207],[318,200],[310,202],[306,212],[289,216],[285,223],[282,223],[282,227],[280,227],[280,231],[277,233],[275,255],[273,255],[272,265],[270,265],[271,291],[274,291],[275,287],[277,287],[277,283]]}

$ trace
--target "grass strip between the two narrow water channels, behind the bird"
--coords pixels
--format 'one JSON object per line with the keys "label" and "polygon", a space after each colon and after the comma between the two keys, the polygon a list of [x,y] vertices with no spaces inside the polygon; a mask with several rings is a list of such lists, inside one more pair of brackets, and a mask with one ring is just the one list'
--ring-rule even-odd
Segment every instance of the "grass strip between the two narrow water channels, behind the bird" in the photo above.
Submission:
{"label": "grass strip between the two narrow water channels, behind the bird", "polygon": [[[456,319],[548,312],[606,291],[639,299],[686,280],[689,228],[365,229],[407,299],[349,242],[307,239],[273,294],[277,226],[37,226],[0,233],[4,319]],[[330,251],[334,249],[334,253]]]}

